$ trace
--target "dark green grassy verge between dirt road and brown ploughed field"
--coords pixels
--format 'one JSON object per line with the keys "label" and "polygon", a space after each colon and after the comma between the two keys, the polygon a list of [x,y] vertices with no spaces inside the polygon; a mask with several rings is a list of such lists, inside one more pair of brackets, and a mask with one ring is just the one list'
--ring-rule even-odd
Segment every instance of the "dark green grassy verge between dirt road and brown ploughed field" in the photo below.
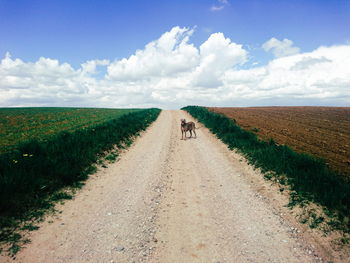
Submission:
{"label": "dark green grassy verge between dirt road and brown ploughed field", "polygon": [[[296,153],[273,140],[259,140],[254,133],[241,129],[233,120],[204,107],[187,106],[183,110],[202,122],[230,149],[238,149],[252,165],[262,170],[266,178],[288,186],[291,191],[290,206],[315,202],[331,218],[328,223],[333,229],[350,233],[350,183],[330,170],[324,161]],[[323,217],[313,217],[313,223],[324,221]]]}

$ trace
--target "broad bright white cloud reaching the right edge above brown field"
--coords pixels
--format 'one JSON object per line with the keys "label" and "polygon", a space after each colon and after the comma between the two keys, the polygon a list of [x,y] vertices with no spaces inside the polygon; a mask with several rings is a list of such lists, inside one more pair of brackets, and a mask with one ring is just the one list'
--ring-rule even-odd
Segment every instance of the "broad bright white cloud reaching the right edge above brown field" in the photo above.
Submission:
{"label": "broad bright white cloud reaching the right edge above brown field", "polygon": [[225,84],[240,87],[235,95],[254,103],[344,106],[350,103],[349,66],[350,46],[320,47],[264,67],[227,71]]}

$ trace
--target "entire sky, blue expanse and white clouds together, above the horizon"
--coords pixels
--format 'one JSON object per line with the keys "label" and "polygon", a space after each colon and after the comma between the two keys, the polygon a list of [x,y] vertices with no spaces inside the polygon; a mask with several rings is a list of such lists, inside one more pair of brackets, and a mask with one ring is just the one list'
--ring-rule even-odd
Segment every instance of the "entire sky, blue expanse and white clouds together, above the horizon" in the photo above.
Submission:
{"label": "entire sky, blue expanse and white clouds together, above the horizon", "polygon": [[350,106],[350,0],[0,0],[0,107]]}

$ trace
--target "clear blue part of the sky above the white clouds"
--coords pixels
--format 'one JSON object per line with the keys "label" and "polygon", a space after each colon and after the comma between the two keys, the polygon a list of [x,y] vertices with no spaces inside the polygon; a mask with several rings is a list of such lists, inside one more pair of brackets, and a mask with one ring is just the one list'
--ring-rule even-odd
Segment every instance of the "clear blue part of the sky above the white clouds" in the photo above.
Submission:
{"label": "clear blue part of the sky above the white clouds", "polygon": [[[78,66],[131,55],[173,26],[194,27],[199,44],[212,32],[259,47],[272,36],[311,51],[350,41],[349,0],[236,0],[220,11],[213,0],[0,0],[0,54],[41,56]],[[262,52],[254,51],[257,59]]]}

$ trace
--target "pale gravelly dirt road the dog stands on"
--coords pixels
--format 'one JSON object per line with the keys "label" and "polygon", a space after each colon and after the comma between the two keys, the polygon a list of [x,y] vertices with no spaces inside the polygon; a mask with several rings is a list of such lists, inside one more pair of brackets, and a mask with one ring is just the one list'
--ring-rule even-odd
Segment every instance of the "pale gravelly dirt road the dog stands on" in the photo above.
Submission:
{"label": "pale gravelly dirt road the dog stands on", "polygon": [[180,140],[181,118],[191,119],[163,111],[32,233],[16,261],[320,262],[261,194],[261,175],[203,127]]}

